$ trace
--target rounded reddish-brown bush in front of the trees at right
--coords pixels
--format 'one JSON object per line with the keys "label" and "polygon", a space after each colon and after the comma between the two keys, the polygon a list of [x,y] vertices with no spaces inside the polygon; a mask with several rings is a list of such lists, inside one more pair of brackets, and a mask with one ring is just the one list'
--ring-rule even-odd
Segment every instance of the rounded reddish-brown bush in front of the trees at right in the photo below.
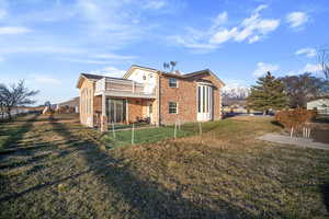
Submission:
{"label": "rounded reddish-brown bush in front of the trees at right", "polygon": [[281,123],[286,129],[300,129],[307,122],[316,117],[316,111],[305,108],[285,110],[275,114],[275,120]]}

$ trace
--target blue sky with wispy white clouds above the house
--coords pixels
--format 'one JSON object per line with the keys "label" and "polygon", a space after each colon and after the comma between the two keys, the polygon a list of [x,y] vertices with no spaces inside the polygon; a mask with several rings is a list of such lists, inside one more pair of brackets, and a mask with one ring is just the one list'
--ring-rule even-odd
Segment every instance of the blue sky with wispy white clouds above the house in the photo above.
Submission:
{"label": "blue sky with wispy white clouds above the house", "polygon": [[0,83],[25,80],[37,104],[78,96],[79,74],[131,65],[211,69],[228,88],[319,74],[328,0],[0,0]]}

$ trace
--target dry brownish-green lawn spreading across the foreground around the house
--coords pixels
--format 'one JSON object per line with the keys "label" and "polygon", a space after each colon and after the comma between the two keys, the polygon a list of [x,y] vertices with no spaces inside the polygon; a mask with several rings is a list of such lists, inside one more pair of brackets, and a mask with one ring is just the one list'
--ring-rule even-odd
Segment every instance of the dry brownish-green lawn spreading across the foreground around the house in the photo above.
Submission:
{"label": "dry brownish-green lawn spreading across the foreground around the house", "polygon": [[0,218],[329,217],[328,151],[256,140],[271,118],[203,126],[111,148],[71,115],[0,124]]}

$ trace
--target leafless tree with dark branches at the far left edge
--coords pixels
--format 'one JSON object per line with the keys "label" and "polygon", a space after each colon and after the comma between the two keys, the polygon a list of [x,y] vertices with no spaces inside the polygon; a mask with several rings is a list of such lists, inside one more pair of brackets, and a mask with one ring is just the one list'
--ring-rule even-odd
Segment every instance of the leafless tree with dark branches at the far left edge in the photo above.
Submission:
{"label": "leafless tree with dark branches at the far left edge", "polygon": [[23,80],[16,84],[12,84],[11,87],[0,84],[0,100],[3,113],[5,113],[8,118],[12,120],[12,110],[18,106],[35,103],[35,101],[31,100],[31,97],[37,93],[38,91],[30,91],[25,88]]}

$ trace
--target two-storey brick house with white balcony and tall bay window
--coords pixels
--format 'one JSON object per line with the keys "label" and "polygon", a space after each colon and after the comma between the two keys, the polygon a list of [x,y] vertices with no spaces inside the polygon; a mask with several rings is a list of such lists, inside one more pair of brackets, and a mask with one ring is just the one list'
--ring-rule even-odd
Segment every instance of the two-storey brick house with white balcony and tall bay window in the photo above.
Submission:
{"label": "two-storey brick house with white balcony and tall bay window", "polygon": [[109,123],[220,119],[224,85],[208,69],[181,74],[133,65],[123,78],[81,73],[80,122],[106,130]]}

